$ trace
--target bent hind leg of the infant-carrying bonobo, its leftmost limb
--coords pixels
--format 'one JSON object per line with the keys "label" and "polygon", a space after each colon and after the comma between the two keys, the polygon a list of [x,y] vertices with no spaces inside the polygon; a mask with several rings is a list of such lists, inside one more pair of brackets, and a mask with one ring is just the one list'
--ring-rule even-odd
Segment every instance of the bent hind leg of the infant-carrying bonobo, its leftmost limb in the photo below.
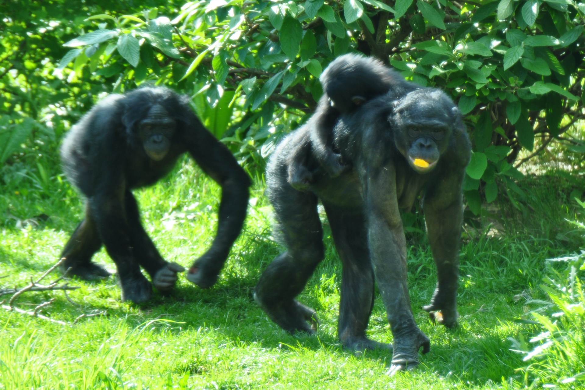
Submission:
{"label": "bent hind leg of the infant-carrying bonobo, its leftmost limb", "polygon": [[[273,260],[260,277],[254,299],[271,320],[287,332],[314,333],[315,310],[295,301],[324,257],[323,233],[314,194],[299,192],[282,172],[270,183],[270,200],[284,235],[287,251]],[[309,326],[309,323],[311,324]]]}

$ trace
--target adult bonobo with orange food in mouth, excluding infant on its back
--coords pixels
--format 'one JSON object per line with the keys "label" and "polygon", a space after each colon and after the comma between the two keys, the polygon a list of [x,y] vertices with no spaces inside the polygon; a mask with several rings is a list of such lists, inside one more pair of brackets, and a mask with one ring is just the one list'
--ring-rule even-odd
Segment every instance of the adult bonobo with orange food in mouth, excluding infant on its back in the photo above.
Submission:
{"label": "adult bonobo with orange food in mouth, excluding infant on its back", "polygon": [[[351,65],[356,57],[340,57]],[[359,78],[357,73],[343,77]],[[364,85],[367,89],[369,85]],[[337,103],[337,102],[336,102]],[[317,119],[319,120],[319,119]],[[353,350],[393,347],[391,371],[414,368],[418,350],[429,339],[412,315],[407,287],[406,243],[400,209],[408,210],[422,196],[426,229],[438,269],[438,285],[424,309],[457,325],[457,274],[462,225],[462,182],[470,143],[461,114],[442,91],[397,82],[339,116],[332,132],[332,150],[352,169],[331,177],[312,148],[315,122],[292,132],[277,147],[266,181],[287,251],[264,271],[254,298],[267,315],[288,332],[314,332],[315,311],[295,300],[324,257],[317,203],[325,208],[333,240],[343,264],[338,334]],[[309,143],[305,160],[312,173],[308,191],[287,182],[290,154]],[[374,278],[380,289],[394,344],[366,337],[374,299]]]}

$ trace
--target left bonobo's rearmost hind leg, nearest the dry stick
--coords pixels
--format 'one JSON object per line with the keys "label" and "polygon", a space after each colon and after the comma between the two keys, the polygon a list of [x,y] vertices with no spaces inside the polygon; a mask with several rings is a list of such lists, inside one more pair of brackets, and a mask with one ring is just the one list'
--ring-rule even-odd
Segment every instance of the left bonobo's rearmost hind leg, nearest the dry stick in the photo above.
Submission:
{"label": "left bonobo's rearmost hind leg, nearest the dry stick", "polygon": [[102,240],[99,238],[90,209],[86,206],[85,210],[85,219],[77,226],[63,248],[60,258],[65,258],[65,261],[61,263],[60,270],[65,272],[71,268],[67,275],[84,280],[107,278],[110,273],[91,261],[91,257],[101,248]]}

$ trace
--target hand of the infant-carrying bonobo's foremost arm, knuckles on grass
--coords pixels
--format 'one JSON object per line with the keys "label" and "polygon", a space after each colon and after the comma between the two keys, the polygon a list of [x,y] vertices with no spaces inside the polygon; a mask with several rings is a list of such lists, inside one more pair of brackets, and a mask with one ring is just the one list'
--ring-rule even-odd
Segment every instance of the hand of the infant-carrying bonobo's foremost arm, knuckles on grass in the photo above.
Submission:
{"label": "hand of the infant-carrying bonobo's foremost arm, knuckles on grass", "polygon": [[394,335],[394,351],[392,364],[386,375],[394,375],[398,371],[411,371],[418,365],[418,350],[422,347],[422,353],[431,350],[431,340],[426,334],[417,329],[415,333],[402,336]]}

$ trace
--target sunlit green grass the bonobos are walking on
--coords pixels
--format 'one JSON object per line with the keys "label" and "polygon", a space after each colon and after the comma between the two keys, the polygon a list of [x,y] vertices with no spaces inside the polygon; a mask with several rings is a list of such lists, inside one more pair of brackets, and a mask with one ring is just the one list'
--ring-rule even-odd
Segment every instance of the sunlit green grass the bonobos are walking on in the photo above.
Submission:
{"label": "sunlit green grass the bonobos are walking on", "polygon": [[[19,299],[19,308],[30,309],[56,298],[43,314],[69,323],[83,313],[106,312],[70,326],[0,310],[0,389],[524,388],[518,368],[526,363],[510,350],[508,338],[540,330],[514,320],[526,317],[525,296],[546,299],[538,288],[545,259],[583,244],[565,222],[574,215],[567,195],[573,189],[555,180],[526,181],[525,207],[534,211],[525,216],[500,203],[493,212],[497,234],[490,233],[495,220],[484,220],[480,229],[466,227],[455,331],[434,325],[420,309],[431,298],[435,267],[425,237],[408,236],[412,308],[432,343],[414,372],[388,377],[390,354],[367,351],[356,357],[338,343],[340,264],[328,226],[326,258],[300,296],[318,312],[316,336],[290,336],[257,307],[253,287],[282,248],[271,239],[270,207],[256,178],[245,230],[214,288],[201,290],[181,277],[170,295],[132,305],[120,302],[112,277],[71,281],[81,287],[68,294],[73,303],[63,292]],[[191,162],[136,192],[146,230],[168,261],[188,266],[209,246],[219,194]],[[58,260],[82,217],[82,202],[57,178],[44,187],[25,178],[2,189],[0,210],[0,277],[8,275],[0,285],[23,286]],[[27,221],[42,213],[49,219]],[[113,268],[104,250],[95,260]],[[368,332],[375,340],[392,341],[379,296]]]}

